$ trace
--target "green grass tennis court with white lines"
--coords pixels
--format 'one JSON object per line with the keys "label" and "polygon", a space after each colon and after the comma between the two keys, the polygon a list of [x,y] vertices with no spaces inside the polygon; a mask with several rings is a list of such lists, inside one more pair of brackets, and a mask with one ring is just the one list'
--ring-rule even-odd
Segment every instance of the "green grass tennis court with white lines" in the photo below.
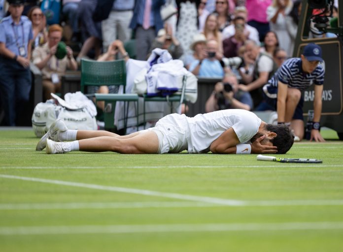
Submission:
{"label": "green grass tennis court with white lines", "polygon": [[343,142],[281,157],[35,151],[0,131],[1,252],[339,252]]}

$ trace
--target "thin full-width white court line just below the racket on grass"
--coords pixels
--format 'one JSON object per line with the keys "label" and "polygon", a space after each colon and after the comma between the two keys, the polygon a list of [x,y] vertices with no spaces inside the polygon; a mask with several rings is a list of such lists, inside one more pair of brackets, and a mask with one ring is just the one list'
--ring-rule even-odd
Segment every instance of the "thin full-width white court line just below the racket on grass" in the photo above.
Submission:
{"label": "thin full-width white court line just below the racket on grass", "polygon": [[[261,161],[259,161],[261,162]],[[275,164],[277,163],[277,164]],[[177,166],[1,166],[0,169],[179,169],[179,168],[276,168],[276,167],[288,167],[288,168],[309,168],[309,167],[343,167],[341,165],[325,165],[325,164],[280,164],[278,162],[269,162],[270,165],[177,165]]]}

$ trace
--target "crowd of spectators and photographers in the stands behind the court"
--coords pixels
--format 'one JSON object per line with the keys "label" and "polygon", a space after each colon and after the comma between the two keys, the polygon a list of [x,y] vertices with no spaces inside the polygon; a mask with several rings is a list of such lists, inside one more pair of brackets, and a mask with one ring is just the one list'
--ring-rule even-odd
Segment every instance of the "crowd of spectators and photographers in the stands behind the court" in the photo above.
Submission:
{"label": "crowd of spectators and photographers in the stands behind the court", "polygon": [[[195,75],[223,79],[208,94],[206,110],[264,109],[261,88],[293,56],[301,10],[300,0],[63,0],[60,8],[43,11],[54,1],[0,1],[0,99],[6,125],[15,125],[18,103],[28,100],[29,62],[42,71],[44,99],[49,99],[67,69],[76,70],[84,57],[126,58],[123,44],[130,39],[136,41],[137,60],[146,60],[154,48],[167,49]],[[161,9],[169,5],[177,13],[166,19]],[[59,24],[47,24],[48,14],[60,16]],[[61,40],[66,54],[58,59]],[[68,46],[75,41],[79,50]],[[233,57],[239,59],[227,60]]]}

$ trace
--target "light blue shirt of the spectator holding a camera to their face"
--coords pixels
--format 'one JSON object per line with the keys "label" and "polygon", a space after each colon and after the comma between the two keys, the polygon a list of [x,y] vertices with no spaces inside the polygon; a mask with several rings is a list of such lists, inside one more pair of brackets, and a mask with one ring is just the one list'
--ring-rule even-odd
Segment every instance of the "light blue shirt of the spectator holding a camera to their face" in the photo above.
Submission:
{"label": "light blue shirt of the spectator holding a camera to their face", "polygon": [[[199,60],[193,61],[189,67],[189,71],[192,72],[198,65]],[[204,59],[201,63],[198,76],[222,78],[224,77],[224,69],[218,60],[211,61]]]}

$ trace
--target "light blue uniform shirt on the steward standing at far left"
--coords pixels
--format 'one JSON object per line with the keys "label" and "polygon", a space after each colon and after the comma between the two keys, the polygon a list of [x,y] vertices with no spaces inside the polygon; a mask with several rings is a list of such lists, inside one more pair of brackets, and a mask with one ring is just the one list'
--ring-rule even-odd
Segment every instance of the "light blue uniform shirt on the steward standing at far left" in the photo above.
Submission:
{"label": "light blue uniform shirt on the steward standing at far left", "polygon": [[33,39],[32,23],[26,16],[21,16],[19,24],[15,24],[12,16],[4,17],[0,22],[0,42],[16,55],[19,54],[19,47],[23,46],[28,54],[28,43]]}

